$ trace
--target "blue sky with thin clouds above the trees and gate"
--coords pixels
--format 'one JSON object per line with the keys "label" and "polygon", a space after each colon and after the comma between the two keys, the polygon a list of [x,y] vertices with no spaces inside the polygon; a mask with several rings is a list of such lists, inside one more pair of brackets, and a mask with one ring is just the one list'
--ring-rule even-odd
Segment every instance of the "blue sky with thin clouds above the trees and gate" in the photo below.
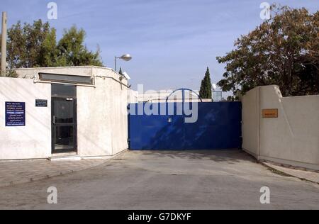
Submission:
{"label": "blue sky with thin clouds above the trees and gate", "polygon": [[[51,0],[52,1],[52,0]],[[53,0],[54,1],[54,0]],[[17,21],[47,20],[46,0],[1,0],[9,26]],[[58,38],[72,25],[86,30],[86,46],[101,48],[104,65],[114,56],[130,53],[130,62],[118,67],[130,74],[133,89],[199,89],[206,67],[213,83],[223,75],[216,56],[233,49],[234,41],[262,23],[263,1],[215,0],[56,0]],[[319,0],[268,1],[317,11]]]}

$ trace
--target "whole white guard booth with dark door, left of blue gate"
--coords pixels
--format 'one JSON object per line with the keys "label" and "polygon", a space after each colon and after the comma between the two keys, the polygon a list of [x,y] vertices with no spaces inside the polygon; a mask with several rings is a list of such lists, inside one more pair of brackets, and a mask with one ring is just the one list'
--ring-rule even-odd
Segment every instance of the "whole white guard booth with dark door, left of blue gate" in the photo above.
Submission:
{"label": "whole white guard booth with dark door, left of blue gate", "polygon": [[0,77],[0,159],[111,157],[128,148],[128,80],[105,67]]}

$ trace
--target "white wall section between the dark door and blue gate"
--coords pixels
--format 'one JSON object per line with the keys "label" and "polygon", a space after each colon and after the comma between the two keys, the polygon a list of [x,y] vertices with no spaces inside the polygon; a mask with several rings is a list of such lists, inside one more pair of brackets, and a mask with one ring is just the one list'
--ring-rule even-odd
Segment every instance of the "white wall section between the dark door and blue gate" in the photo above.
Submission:
{"label": "white wall section between the dark door and blue gate", "polygon": [[128,149],[127,88],[96,78],[96,88],[77,87],[78,152],[82,157]]}

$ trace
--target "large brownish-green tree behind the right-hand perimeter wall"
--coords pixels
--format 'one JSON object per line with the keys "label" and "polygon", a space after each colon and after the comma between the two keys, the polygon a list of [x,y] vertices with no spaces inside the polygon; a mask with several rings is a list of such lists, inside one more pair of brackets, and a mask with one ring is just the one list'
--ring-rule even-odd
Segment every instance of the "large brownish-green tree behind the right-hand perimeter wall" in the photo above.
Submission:
{"label": "large brownish-green tree behind the right-hand perimeter wall", "polygon": [[218,86],[241,94],[277,84],[283,96],[319,93],[319,11],[272,6],[275,16],[235,42]]}

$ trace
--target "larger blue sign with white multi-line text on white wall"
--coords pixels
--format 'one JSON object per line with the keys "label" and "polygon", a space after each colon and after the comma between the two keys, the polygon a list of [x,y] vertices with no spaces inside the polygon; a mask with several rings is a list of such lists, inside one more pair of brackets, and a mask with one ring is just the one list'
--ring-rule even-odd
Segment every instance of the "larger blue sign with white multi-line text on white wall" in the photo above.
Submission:
{"label": "larger blue sign with white multi-line text on white wall", "polygon": [[26,103],[6,102],[6,126],[26,126]]}

